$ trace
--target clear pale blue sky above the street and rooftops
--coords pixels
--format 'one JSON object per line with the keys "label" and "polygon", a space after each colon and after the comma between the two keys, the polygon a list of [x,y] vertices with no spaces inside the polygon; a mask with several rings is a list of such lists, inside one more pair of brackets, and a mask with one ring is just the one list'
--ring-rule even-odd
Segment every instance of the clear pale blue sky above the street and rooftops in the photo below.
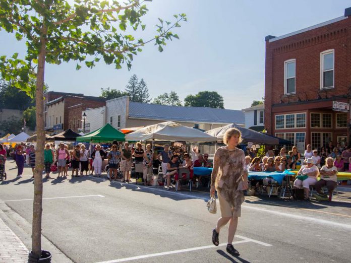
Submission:
{"label": "clear pale blue sky above the street and rooftops", "polygon": [[[345,0],[254,1],[254,0],[153,0],[143,18],[144,40],[155,35],[157,18],[173,21],[174,14],[187,14],[188,22],[172,30],[180,40],[167,42],[163,52],[153,43],[134,57],[132,68],[115,70],[99,62],[93,69],[76,62],[45,65],[50,91],[99,96],[101,88],[124,90],[136,74],[147,83],[150,97],[175,91],[180,99],[199,91],[216,91],[226,109],[250,107],[264,96],[265,42],[267,35],[280,36],[343,16],[351,7]],[[0,55],[19,52],[25,42],[0,31]]]}

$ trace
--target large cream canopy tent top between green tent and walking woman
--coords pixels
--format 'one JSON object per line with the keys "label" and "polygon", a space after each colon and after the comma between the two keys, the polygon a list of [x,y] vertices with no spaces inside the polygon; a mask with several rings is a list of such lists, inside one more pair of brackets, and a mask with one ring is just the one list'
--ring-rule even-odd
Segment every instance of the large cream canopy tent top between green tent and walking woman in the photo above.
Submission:
{"label": "large cream canopy tent top between green tent and walking woman", "polygon": [[216,138],[200,130],[183,126],[177,122],[166,121],[146,126],[126,135],[126,141],[186,141],[215,142]]}

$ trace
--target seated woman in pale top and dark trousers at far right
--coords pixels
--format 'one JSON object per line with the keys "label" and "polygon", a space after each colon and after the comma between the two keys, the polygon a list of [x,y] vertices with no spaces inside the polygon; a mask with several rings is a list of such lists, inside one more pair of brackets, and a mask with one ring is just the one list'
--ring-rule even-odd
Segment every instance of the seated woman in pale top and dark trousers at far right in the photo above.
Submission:
{"label": "seated woman in pale top and dark trousers at far right", "polygon": [[329,193],[329,201],[333,195],[334,188],[337,185],[337,168],[333,165],[333,158],[328,157],[325,159],[326,165],[321,168],[321,179],[316,182],[315,188],[318,193],[321,193],[321,188],[327,186]]}

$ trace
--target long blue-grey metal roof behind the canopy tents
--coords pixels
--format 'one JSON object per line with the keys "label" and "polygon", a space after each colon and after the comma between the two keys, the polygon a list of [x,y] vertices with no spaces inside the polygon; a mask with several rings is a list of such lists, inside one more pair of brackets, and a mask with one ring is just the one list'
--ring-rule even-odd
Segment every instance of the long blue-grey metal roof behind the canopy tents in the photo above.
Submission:
{"label": "long blue-grey metal roof behind the canopy tents", "polygon": [[129,102],[129,117],[205,123],[245,123],[241,110]]}

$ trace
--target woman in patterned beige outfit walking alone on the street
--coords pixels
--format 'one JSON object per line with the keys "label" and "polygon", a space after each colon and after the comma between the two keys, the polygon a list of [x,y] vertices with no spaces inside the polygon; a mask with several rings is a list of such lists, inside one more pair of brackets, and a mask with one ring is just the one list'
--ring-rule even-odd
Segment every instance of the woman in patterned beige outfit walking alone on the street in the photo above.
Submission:
{"label": "woman in patterned beige outfit walking alone on the street", "polygon": [[214,196],[217,190],[221,217],[217,226],[212,230],[212,242],[219,245],[221,228],[229,222],[228,243],[226,251],[233,255],[240,255],[232,245],[241,216],[241,205],[244,202],[244,190],[248,188],[248,171],[245,165],[245,154],[237,148],[242,141],[240,130],[230,128],[225,132],[223,142],[226,146],[218,148],[214,154],[213,170],[211,174],[210,194]]}

